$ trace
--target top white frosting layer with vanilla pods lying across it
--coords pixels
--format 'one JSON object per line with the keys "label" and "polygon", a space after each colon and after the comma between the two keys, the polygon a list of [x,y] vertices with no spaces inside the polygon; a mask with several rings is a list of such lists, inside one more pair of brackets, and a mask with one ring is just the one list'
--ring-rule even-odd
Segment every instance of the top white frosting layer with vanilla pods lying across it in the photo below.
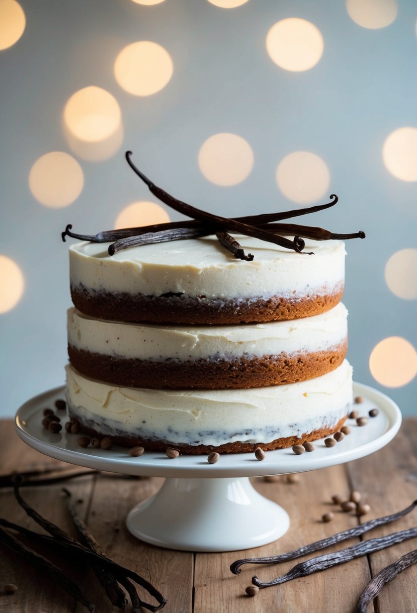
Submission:
{"label": "top white frosting layer with vanilla pods lying across it", "polygon": [[[73,288],[128,294],[182,293],[207,299],[325,295],[344,284],[344,243],[306,239],[299,254],[257,238],[236,236],[252,262],[235,259],[215,237],[125,249],[109,256],[110,243],[70,247]],[[192,257],[191,257],[192,254]],[[190,264],[192,259],[193,264]]]}

